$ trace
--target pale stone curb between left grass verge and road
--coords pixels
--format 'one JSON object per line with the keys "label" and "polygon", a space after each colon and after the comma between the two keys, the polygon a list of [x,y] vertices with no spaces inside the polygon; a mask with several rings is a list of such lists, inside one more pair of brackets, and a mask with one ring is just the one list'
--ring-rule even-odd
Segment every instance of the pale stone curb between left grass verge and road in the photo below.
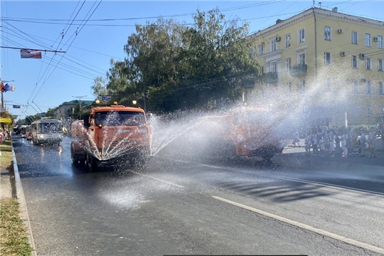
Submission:
{"label": "pale stone curb between left grass verge and road", "polygon": [[[18,199],[18,203],[20,205],[21,217],[24,219],[24,223],[27,228],[29,244],[32,247],[31,256],[37,256],[35,242],[33,241],[31,223],[29,222],[28,209],[26,206],[26,198],[24,197],[23,186],[21,186],[21,178],[20,178],[20,174],[18,174],[18,166],[17,166],[16,155],[15,155],[13,146],[12,146],[12,156],[14,159],[14,177],[15,177],[14,185],[16,186],[16,198]],[[12,191],[14,191],[14,188],[12,188]]]}

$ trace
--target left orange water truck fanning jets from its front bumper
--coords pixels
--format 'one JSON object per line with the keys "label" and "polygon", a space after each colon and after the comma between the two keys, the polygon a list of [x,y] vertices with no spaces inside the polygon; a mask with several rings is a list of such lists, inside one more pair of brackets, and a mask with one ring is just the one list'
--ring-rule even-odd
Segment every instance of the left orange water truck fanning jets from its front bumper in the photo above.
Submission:
{"label": "left orange water truck fanning jets from its front bumper", "polygon": [[151,129],[139,107],[92,105],[84,119],[71,124],[73,164],[95,170],[106,161],[144,164],[151,156]]}

